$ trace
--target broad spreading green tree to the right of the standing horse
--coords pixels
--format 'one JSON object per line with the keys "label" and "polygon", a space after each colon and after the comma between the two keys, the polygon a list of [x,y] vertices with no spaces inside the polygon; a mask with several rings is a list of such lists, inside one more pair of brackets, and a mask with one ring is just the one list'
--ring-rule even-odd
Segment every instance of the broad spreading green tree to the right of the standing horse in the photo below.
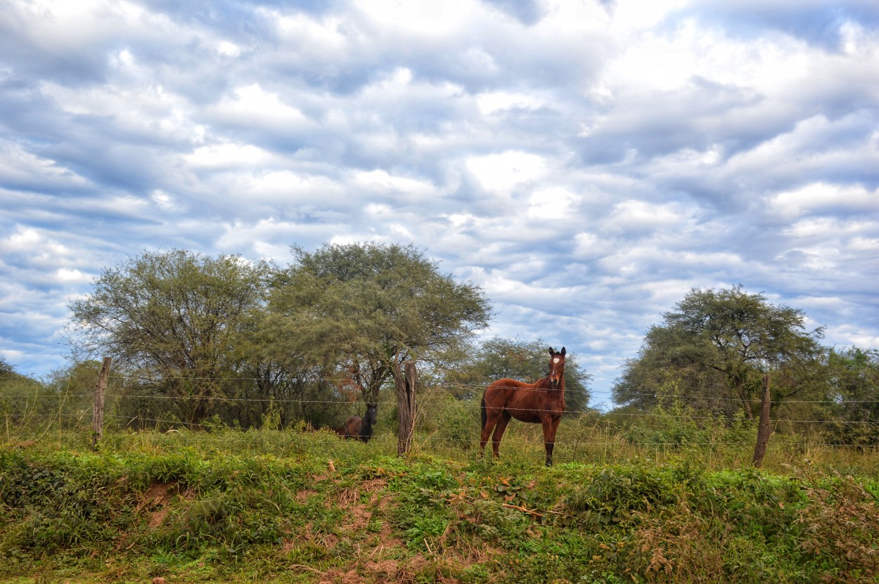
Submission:
{"label": "broad spreading green tree to the right of the standing horse", "polygon": [[738,404],[748,418],[762,390],[764,372],[782,373],[780,399],[806,387],[800,364],[822,352],[823,329],[806,332],[803,311],[774,306],[763,294],[731,289],[694,289],[663,324],[650,328],[636,360],[626,363],[614,386],[614,401],[649,405],[665,382],[704,404],[730,413]]}

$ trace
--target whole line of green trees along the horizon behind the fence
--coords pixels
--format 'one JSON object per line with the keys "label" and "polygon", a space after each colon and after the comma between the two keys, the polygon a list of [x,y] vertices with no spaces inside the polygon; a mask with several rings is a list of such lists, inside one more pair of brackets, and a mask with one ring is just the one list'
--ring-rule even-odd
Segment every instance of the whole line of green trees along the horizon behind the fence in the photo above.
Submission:
{"label": "whole line of green trees along the horizon behind the fence", "polygon": [[[541,339],[476,342],[492,316],[489,299],[411,245],[291,249],[285,267],[172,249],[106,268],[89,295],[69,304],[72,364],[48,385],[57,391],[66,378],[68,388],[86,389],[99,366],[93,359],[109,356],[117,375],[108,394],[129,396],[118,415],[135,427],[254,428],[338,423],[378,402],[408,361],[422,383],[459,400],[501,377],[533,382],[546,373]],[[839,443],[875,444],[879,351],[825,347],[824,329],[807,330],[805,318],[741,285],[693,289],[625,360],[607,415],[673,401],[720,420],[752,420],[767,374],[775,420],[809,420]],[[590,411],[590,376],[576,355],[567,371],[569,415]],[[0,360],[7,410],[34,383]]]}

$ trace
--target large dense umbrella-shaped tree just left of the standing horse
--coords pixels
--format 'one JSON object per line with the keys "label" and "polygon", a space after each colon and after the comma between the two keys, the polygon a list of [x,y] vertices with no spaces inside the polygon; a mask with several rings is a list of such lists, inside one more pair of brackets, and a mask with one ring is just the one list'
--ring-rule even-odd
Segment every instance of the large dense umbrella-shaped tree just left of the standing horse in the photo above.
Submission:
{"label": "large dense umbrella-shaped tree just left of the standing horse", "polygon": [[412,246],[294,246],[272,284],[266,329],[280,353],[334,371],[375,403],[409,360],[441,359],[483,328],[482,290],[458,283]]}

